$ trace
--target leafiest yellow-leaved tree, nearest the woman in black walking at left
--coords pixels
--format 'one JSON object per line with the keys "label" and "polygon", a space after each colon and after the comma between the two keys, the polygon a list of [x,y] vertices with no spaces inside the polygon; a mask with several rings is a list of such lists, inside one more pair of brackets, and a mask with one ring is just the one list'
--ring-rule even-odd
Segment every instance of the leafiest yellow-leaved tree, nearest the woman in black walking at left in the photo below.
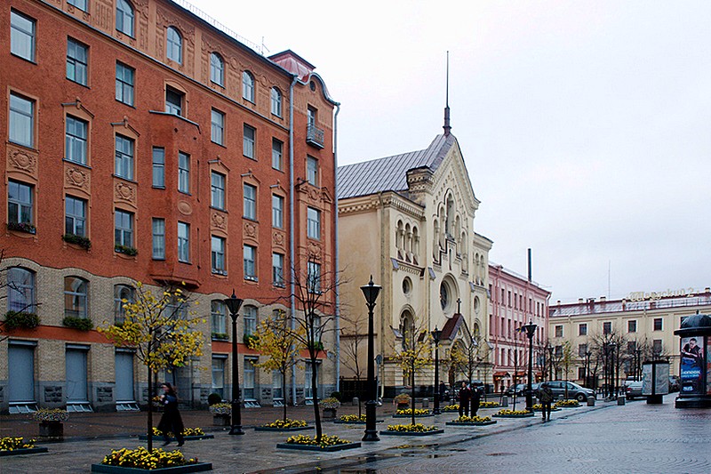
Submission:
{"label": "leafiest yellow-leaved tree, nearest the woman in black walking at left", "polygon": [[[185,284],[183,284],[185,285]],[[148,369],[148,450],[153,449],[153,374],[185,366],[203,355],[203,333],[196,324],[204,319],[188,311],[188,294],[167,287],[156,294],[140,282],[134,301],[122,300],[124,320],[105,322],[97,330],[116,347],[131,348]]]}

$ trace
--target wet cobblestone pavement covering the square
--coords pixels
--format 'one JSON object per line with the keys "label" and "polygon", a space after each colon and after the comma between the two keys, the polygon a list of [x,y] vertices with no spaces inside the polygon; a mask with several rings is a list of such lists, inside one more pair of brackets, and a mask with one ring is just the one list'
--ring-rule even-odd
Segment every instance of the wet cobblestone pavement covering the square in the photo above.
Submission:
{"label": "wet cobblestone pavement covering the square", "polygon": [[[407,473],[437,472],[711,472],[711,410],[678,410],[675,395],[661,406],[643,401],[626,406],[597,402],[595,407],[569,408],[553,414],[553,422],[534,419],[499,419],[495,425],[476,428],[450,427],[455,414],[419,419],[444,428],[441,435],[428,437],[381,436],[379,442],[336,453],[310,453],[277,449],[285,433],[255,432],[229,436],[214,429],[214,439],[188,441],[181,448],[188,457],[212,462],[213,472],[331,472]],[[343,406],[339,414],[354,413]],[[482,409],[480,415],[493,414]],[[379,430],[394,420],[391,406],[379,408]],[[279,417],[277,409],[245,410],[245,427]],[[0,458],[0,472],[88,472],[91,464],[119,447],[145,446],[136,435],[145,426],[145,414],[76,414],[60,443],[38,442],[48,454]],[[210,430],[212,418],[206,412],[185,412],[186,426]],[[290,407],[290,418],[311,420],[310,407]],[[74,424],[72,425],[72,422]],[[24,423],[24,424],[23,424]],[[24,426],[24,429],[22,428]],[[15,433],[10,431],[28,430]],[[324,422],[324,433],[358,441],[363,425]],[[0,417],[3,436],[36,436],[36,423],[26,418]],[[302,431],[313,434],[312,431]],[[175,449],[175,445],[169,446]]]}

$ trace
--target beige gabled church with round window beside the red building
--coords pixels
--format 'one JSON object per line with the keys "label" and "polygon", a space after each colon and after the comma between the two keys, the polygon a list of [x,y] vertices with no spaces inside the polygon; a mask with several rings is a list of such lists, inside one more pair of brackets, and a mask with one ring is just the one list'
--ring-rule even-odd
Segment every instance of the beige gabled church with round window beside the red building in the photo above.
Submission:
{"label": "beige gabled church with round window beside the red building", "polygon": [[[375,307],[375,354],[380,394],[389,398],[408,384],[391,357],[403,348],[413,325],[421,332],[458,321],[443,333],[441,359],[467,333],[465,327],[472,334],[486,333],[491,240],[475,232],[479,201],[448,127],[427,149],[340,166],[338,196],[345,281],[341,377],[366,376],[367,309],[359,287],[372,276],[383,288]],[[440,375],[446,382],[444,365]],[[427,392],[432,367],[416,377],[418,390]]]}

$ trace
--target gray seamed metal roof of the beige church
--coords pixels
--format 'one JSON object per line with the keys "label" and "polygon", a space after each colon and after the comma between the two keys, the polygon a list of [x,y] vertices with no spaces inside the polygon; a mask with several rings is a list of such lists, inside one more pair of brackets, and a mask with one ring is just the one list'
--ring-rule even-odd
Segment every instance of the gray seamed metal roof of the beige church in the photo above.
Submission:
{"label": "gray seamed metal roof of the beige church", "polygon": [[452,134],[437,135],[427,149],[339,166],[338,197],[346,199],[379,191],[407,190],[408,170],[426,166],[435,171],[456,140]]}

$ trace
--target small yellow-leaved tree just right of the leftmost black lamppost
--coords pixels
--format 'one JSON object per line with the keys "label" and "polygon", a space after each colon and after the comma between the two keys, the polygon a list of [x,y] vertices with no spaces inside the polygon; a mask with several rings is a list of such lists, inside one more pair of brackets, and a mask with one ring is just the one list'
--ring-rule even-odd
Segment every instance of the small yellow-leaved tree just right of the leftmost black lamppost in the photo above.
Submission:
{"label": "small yellow-leaved tree just right of the leftmost black lamppost", "polygon": [[[254,366],[268,371],[278,371],[282,375],[282,390],[286,390],[286,374],[300,360],[300,350],[305,349],[301,342],[306,330],[298,326],[289,326],[289,317],[284,310],[278,310],[273,317],[261,322],[255,337],[250,338],[250,349],[258,350],[267,358]],[[285,393],[285,392],[284,392]],[[286,400],[284,399],[284,421],[286,420]]]}

